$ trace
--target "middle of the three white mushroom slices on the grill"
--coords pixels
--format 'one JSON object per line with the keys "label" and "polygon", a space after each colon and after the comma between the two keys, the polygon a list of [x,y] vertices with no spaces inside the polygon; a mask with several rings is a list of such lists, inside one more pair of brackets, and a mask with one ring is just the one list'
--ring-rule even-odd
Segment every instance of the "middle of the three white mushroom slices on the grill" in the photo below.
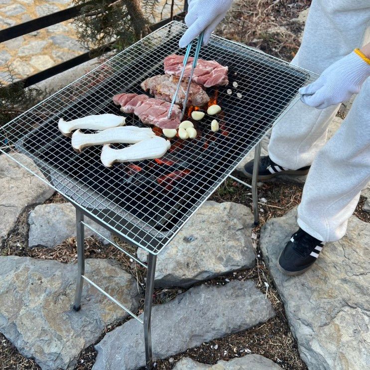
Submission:
{"label": "middle of the three white mushroom slices on the grill", "polygon": [[77,152],[92,145],[125,143],[135,144],[136,142],[154,137],[155,133],[151,128],[136,126],[123,126],[107,128],[97,133],[83,133],[80,129],[73,132],[72,147]]}

